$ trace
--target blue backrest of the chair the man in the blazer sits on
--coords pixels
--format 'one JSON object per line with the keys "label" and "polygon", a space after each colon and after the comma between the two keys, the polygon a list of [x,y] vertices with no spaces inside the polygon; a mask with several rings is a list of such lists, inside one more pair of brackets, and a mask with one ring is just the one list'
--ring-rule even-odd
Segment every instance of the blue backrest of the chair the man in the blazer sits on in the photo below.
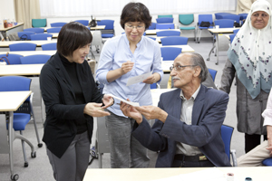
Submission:
{"label": "blue backrest of the chair the man in the blazer sits on", "polygon": [[225,145],[225,152],[228,155],[229,159],[230,159],[230,142],[231,142],[233,129],[234,128],[229,127],[227,125],[221,126],[221,137],[222,137],[224,145]]}

